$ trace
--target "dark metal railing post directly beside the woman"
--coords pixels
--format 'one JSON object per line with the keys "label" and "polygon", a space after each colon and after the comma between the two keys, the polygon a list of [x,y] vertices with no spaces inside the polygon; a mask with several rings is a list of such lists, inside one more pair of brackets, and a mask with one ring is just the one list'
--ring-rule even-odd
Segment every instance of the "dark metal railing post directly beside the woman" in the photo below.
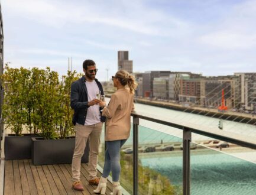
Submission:
{"label": "dark metal railing post directly beside the woman", "polygon": [[139,118],[133,117],[133,194],[138,194],[138,130],[139,130]]}

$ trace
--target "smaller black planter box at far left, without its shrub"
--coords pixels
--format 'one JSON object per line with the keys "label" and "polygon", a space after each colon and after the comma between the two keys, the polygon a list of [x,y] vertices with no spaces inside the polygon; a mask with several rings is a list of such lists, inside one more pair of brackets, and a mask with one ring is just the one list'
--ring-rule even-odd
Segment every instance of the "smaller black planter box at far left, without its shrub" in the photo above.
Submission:
{"label": "smaller black planter box at far left, without its shrub", "polygon": [[5,134],[5,160],[30,159],[32,137],[38,137],[38,135],[15,136],[15,134]]}

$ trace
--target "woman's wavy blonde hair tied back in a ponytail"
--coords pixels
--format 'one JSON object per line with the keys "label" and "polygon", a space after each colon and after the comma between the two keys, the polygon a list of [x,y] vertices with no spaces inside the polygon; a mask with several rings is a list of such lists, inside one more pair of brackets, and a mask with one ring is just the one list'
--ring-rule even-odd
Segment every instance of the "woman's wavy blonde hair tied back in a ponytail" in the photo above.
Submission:
{"label": "woman's wavy blonde hair tied back in a ponytail", "polygon": [[137,88],[138,84],[135,81],[135,77],[129,74],[125,70],[119,70],[115,73],[115,77],[118,78],[122,86],[128,86],[130,92],[134,94],[134,90]]}

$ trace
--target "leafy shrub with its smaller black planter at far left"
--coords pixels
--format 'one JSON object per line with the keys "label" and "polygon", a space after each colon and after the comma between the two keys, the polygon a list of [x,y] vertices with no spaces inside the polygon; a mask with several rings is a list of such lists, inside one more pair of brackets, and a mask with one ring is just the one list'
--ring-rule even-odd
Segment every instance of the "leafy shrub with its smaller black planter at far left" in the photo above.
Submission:
{"label": "leafy shrub with its smaller black planter at far left", "polygon": [[[28,69],[11,69],[5,66],[1,76],[5,89],[3,118],[7,128],[15,134],[5,135],[5,159],[18,160],[31,158],[31,137],[37,136],[37,129],[31,122],[31,71]],[[28,134],[22,134],[27,130]]]}

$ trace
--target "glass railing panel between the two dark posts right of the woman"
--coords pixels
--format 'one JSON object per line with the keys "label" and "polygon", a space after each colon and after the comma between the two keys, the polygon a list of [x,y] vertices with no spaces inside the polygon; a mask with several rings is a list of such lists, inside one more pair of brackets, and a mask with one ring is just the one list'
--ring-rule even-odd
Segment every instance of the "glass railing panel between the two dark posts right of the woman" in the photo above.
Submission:
{"label": "glass railing panel between the two dark posts right of the woman", "polygon": [[181,138],[139,126],[139,194],[182,194],[181,144]]}

